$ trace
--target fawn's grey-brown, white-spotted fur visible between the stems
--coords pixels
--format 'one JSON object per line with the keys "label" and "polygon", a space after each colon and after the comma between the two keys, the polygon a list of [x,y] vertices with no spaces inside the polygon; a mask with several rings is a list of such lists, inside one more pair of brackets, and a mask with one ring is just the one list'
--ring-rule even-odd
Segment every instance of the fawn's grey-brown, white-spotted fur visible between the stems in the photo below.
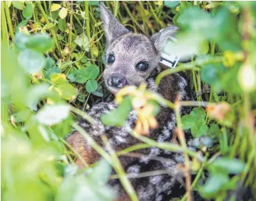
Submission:
{"label": "fawn's grey-brown, white-spotted fur visible between the stems", "polygon": [[[145,35],[134,34],[125,29],[103,3],[100,3],[100,13],[107,39],[106,57],[108,59],[109,54],[114,54],[115,57],[114,63],[108,63],[105,66],[103,74],[105,85],[112,94],[116,94],[122,88],[122,85],[121,87],[114,88],[109,85],[109,79],[113,74],[120,74],[124,77],[126,85],[138,86],[142,82],[146,82],[150,91],[162,94],[165,99],[172,102],[175,101],[178,94],[181,96],[181,99],[187,99],[185,92],[187,82],[179,74],[165,77],[158,87],[154,84],[156,74],[162,71],[161,66],[159,66],[162,46],[164,46],[168,36],[176,35],[176,27],[168,27],[161,33],[156,33],[156,35],[148,38]],[[138,71],[136,69],[136,64],[141,61],[148,63],[147,71]],[[104,126],[100,122],[100,116],[103,113],[108,113],[109,110],[113,110],[115,107],[117,105],[113,101],[94,105],[88,114],[97,124],[91,125],[86,121],[80,121],[80,126],[102,146],[100,135],[105,134],[111,147],[115,150],[140,143],[127,132],[129,129],[133,129],[135,125],[136,113],[134,110],[131,111],[127,121],[125,121],[125,127],[109,127]],[[156,130],[152,130],[149,137],[159,142],[172,142],[173,130],[176,127],[176,118],[173,110],[162,107],[156,119],[159,121],[159,127]],[[91,149],[89,143],[79,133],[72,133],[66,141],[83,156],[86,162],[94,163],[98,160],[97,157],[90,157],[91,155],[97,155],[97,153]],[[81,149],[81,146],[83,149]],[[171,172],[170,174],[131,179],[139,200],[170,200],[170,198],[177,194],[177,190],[179,191],[181,186],[178,180],[181,181],[182,174],[176,166],[178,163],[184,162],[182,154],[161,150],[156,147],[144,149],[137,153],[142,154],[143,157],[131,158],[123,156],[120,158],[125,172],[133,173],[134,175],[139,172],[159,169],[166,169]],[[82,166],[79,160],[77,160],[77,164]],[[119,180],[111,180],[110,184],[119,193],[117,200],[128,200]]]}

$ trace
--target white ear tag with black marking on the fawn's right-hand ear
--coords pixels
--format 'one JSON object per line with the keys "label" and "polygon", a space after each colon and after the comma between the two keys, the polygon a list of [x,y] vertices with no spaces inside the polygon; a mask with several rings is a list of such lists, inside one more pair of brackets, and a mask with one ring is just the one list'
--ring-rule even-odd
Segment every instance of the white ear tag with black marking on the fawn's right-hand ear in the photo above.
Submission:
{"label": "white ear tag with black marking on the fawn's right-hand ear", "polygon": [[[162,30],[160,30],[160,32],[161,31]],[[179,62],[180,57],[178,55],[169,54],[165,52],[165,48],[168,47],[168,49],[170,49],[170,47],[173,46],[173,43],[176,43],[176,41],[177,41],[176,38],[169,37],[161,53],[160,63],[170,68],[175,68],[177,66],[177,63]]]}

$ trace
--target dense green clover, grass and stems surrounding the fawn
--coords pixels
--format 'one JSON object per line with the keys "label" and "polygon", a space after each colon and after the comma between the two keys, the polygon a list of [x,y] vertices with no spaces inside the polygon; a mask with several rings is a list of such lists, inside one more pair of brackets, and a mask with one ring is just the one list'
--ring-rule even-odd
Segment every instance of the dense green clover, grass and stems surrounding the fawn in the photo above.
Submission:
{"label": "dense green clover, grass and stems surrounding the fawn", "polygon": [[[190,191],[196,189],[205,199],[221,201],[238,187],[240,194],[241,186],[251,188],[251,200],[255,200],[256,3],[104,3],[134,32],[151,35],[176,24],[178,43],[165,51],[190,57],[156,81],[185,72],[194,101],[173,105],[139,90],[176,110],[177,127],[181,133],[191,130],[198,152],[187,149],[182,135],[180,146],[164,146],[145,135],[131,134],[143,142],[142,147],[149,144],[184,152],[184,171],[196,179],[190,183],[186,177],[187,194],[182,200],[191,200]],[[89,119],[84,111],[106,95],[102,80],[105,39],[98,4],[1,1],[2,200],[113,200],[113,190],[105,185],[109,177],[116,177],[110,175],[111,166],[119,169],[117,176],[136,200],[117,153],[108,155],[92,144],[105,160],[82,171],[73,161],[79,156],[63,140],[74,127],[80,129],[77,119]],[[122,124],[131,105],[131,99],[125,100],[119,97],[120,108],[103,117],[105,124]],[[180,105],[195,108],[190,115],[180,116]],[[235,200],[235,194],[230,200]]]}

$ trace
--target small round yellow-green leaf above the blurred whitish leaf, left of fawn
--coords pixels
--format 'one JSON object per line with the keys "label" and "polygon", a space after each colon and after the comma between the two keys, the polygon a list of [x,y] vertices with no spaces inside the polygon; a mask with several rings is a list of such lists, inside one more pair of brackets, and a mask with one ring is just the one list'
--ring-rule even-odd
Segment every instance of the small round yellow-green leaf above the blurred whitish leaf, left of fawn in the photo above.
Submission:
{"label": "small round yellow-green leaf above the blurred whitish leaf, left of fawn", "polygon": [[58,85],[55,89],[60,94],[60,97],[69,101],[72,101],[77,96],[77,88],[69,83]]}

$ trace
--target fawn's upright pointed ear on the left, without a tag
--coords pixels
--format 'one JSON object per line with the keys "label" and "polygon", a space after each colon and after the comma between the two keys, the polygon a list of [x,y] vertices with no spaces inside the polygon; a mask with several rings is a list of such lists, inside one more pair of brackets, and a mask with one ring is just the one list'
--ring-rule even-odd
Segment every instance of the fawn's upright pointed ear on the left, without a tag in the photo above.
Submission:
{"label": "fawn's upright pointed ear on the left, without a tag", "polygon": [[108,40],[108,43],[113,42],[116,38],[120,37],[121,35],[125,35],[129,32],[114,15],[108,10],[107,7],[100,2],[100,17],[103,20],[103,28],[105,31],[105,37]]}

